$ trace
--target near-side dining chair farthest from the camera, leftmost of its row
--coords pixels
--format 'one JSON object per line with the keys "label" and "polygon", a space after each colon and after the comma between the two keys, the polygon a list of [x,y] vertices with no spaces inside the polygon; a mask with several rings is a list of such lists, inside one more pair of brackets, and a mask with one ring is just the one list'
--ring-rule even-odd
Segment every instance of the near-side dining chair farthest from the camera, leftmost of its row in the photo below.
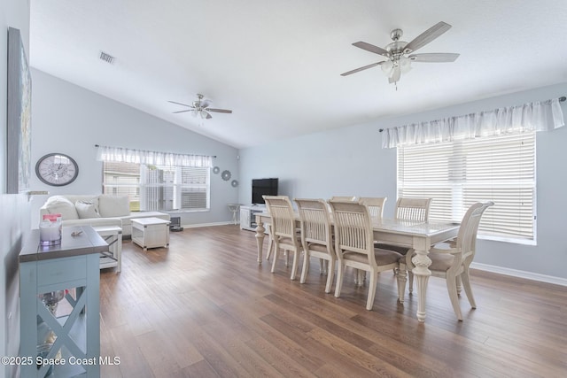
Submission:
{"label": "near-side dining chair farthest from the camera, leftmost of its row", "polygon": [[[293,254],[291,265],[291,280],[295,280],[298,271],[299,253],[302,251],[301,238],[295,227],[295,213],[287,196],[262,196],[266,201],[266,208],[270,214],[269,225],[271,242],[274,243],[274,256],[272,260],[272,273],[276,271],[276,261],[280,251],[286,253],[286,266],[288,253]],[[268,251],[269,253],[269,251]]]}

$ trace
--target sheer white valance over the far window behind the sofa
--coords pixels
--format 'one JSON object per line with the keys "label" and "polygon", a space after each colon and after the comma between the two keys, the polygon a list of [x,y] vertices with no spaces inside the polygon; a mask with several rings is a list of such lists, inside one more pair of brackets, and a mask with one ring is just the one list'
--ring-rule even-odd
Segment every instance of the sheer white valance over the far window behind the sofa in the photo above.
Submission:
{"label": "sheer white valance over the far window behind the sofa", "polygon": [[130,150],[121,147],[97,146],[97,160],[121,163],[150,164],[153,166],[213,166],[213,157],[185,155],[151,150]]}

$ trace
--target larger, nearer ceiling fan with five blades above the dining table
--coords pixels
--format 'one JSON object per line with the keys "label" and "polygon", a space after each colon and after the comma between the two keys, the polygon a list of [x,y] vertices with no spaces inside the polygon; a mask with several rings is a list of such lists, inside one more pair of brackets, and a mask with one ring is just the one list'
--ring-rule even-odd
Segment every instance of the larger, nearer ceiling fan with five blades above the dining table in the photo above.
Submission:
{"label": "larger, nearer ceiling fan with five blades above the dining table", "polygon": [[356,68],[353,71],[341,73],[341,76],[346,76],[351,73],[358,73],[375,66],[381,66],[382,71],[388,77],[388,81],[390,83],[396,83],[400,80],[402,73],[408,73],[408,71],[411,69],[411,62],[454,62],[456,58],[459,58],[459,54],[447,52],[412,54],[412,52],[422,48],[427,43],[439,37],[439,35],[447,32],[447,30],[449,30],[450,28],[451,26],[449,24],[441,21],[425,30],[421,35],[417,35],[416,38],[414,38],[414,40],[411,42],[400,41],[403,32],[401,31],[401,29],[393,29],[390,33],[390,37],[392,38],[393,42],[389,43],[385,47],[385,49],[367,42],[354,42],[353,46],[361,48],[362,50],[374,52],[378,55],[382,55],[387,59],[368,66]]}

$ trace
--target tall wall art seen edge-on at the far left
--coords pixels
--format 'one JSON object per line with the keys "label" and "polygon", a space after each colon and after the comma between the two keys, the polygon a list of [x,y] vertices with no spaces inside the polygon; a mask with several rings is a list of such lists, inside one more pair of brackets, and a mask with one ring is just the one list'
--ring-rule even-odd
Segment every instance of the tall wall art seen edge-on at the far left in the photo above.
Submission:
{"label": "tall wall art seen edge-on at the far left", "polygon": [[6,193],[29,189],[31,162],[32,80],[19,29],[8,29],[8,110]]}

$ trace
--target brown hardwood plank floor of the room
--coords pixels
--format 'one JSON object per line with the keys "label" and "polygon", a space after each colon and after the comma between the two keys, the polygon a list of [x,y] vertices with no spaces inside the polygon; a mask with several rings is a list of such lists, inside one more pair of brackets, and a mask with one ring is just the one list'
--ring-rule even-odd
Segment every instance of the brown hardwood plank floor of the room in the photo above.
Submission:
{"label": "brown hardwood plank floor of the room", "polygon": [[101,272],[101,356],[120,358],[105,378],[567,376],[563,286],[473,271],[478,309],[463,293],[460,322],[431,278],[423,324],[416,296],[396,303],[391,272],[367,311],[352,272],[340,298],[317,261],[291,282],[283,260],[258,266],[254,233],[237,226],[172,233],[168,250],[125,241],[122,256],[120,274]]}

